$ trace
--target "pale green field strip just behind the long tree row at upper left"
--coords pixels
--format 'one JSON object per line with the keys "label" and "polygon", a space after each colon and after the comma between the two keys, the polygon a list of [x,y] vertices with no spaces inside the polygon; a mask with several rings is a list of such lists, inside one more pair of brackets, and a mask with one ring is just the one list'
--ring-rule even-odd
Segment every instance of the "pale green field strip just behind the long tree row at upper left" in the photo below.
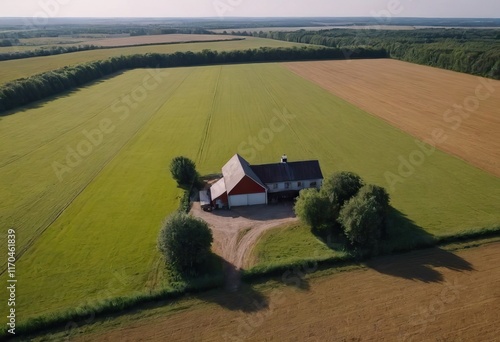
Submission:
{"label": "pale green field strip just behind the long tree row at upper left", "polygon": [[[54,55],[54,56],[0,61],[0,84],[18,78],[39,74],[45,71],[63,68],[68,65],[75,65],[85,62],[102,60],[121,55],[145,54],[153,52],[174,53],[177,51],[199,52],[205,49],[230,51],[230,50],[256,49],[259,47],[293,47],[293,46],[304,46],[304,45],[305,44],[289,43],[272,39],[247,37],[245,40],[239,40],[239,41],[133,46],[125,48],[89,50],[89,51],[80,51],[80,52]],[[16,47],[10,47],[9,49],[12,50],[15,48]]]}

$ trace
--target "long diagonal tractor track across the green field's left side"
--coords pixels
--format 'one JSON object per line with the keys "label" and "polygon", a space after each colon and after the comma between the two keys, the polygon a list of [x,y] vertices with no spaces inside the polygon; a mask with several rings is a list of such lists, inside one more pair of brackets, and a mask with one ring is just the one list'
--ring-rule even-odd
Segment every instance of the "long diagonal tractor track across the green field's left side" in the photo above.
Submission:
{"label": "long diagonal tractor track across the green field's left side", "polygon": [[[179,89],[179,87],[184,83],[184,81],[192,74],[192,71],[191,73],[189,73],[181,82],[179,82],[179,85],[177,86],[176,90]],[[175,94],[175,91],[172,93],[172,94]],[[158,113],[158,110],[160,108],[162,108],[163,106],[165,106],[171,99],[172,99],[173,96],[169,97],[165,102],[163,102],[162,104],[158,105],[158,107],[152,112],[151,116],[144,121],[144,123],[142,125],[140,125],[137,130],[135,132],[133,132],[130,137],[123,143],[123,145],[115,152],[113,153],[109,158],[108,160],[102,165],[101,168],[99,168],[95,174],[92,176],[92,178],[87,182],[85,183],[81,188],[80,190],[77,191],[77,193],[73,196],[73,198],[71,198],[60,210],[59,212],[57,212],[54,216],[53,219],[51,219],[45,226],[42,226],[40,227],[39,229],[37,229],[36,231],[33,232],[33,236],[32,238],[21,248],[18,248],[18,250],[16,251],[16,259],[17,261],[19,261],[21,259],[21,257],[26,253],[26,251],[28,251],[28,249],[30,247],[32,247],[35,242],[43,235],[43,233],[45,233],[45,231],[47,231],[47,229],[64,213],[64,211],[66,211],[66,209],[76,200],[76,198],[78,198],[78,196],[80,196],[80,194],[85,191],[85,189],[87,189],[87,187],[99,176],[99,174],[102,172],[102,170],[104,170],[115,158],[116,156],[118,156],[124,149],[125,147],[130,143],[130,141],[132,141],[138,134],[139,132],[144,129],[149,122],[151,122],[151,120],[155,117],[155,115]],[[43,200],[42,198],[39,198],[37,201],[35,201],[33,203],[32,206],[36,206],[36,204]],[[3,275],[5,272],[7,271],[7,263],[2,263],[0,265],[0,276]]]}

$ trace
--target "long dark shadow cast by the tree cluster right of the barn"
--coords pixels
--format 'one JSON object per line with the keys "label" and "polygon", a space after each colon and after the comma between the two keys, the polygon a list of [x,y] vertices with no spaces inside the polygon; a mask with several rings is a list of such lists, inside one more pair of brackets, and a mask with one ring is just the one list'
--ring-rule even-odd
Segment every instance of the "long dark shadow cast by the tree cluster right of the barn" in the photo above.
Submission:
{"label": "long dark shadow cast by the tree cluster right of the barn", "polygon": [[[385,247],[392,251],[429,246],[434,240],[431,234],[394,208],[389,214],[388,235]],[[444,280],[436,269],[438,267],[454,271],[474,270],[467,260],[441,248],[380,257],[369,260],[366,265],[380,273],[426,283]]]}

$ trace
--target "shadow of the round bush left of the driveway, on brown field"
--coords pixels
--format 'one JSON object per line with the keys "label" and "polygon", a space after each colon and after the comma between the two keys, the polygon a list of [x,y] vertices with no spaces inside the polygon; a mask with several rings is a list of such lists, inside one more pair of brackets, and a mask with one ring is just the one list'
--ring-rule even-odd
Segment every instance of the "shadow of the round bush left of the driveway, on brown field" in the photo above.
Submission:
{"label": "shadow of the round bush left of the driveway, on brown field", "polygon": [[251,313],[267,309],[268,298],[252,286],[242,284],[240,271],[228,261],[222,258],[221,260],[225,275],[224,290],[201,294],[200,299],[218,304],[231,311]]}

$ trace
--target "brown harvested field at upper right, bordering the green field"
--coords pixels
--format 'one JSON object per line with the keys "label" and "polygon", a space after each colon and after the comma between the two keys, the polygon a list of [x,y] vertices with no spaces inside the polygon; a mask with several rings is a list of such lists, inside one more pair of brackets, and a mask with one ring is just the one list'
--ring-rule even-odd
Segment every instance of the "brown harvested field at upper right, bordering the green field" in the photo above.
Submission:
{"label": "brown harvested field at upper right, bordering the green field", "polygon": [[[389,59],[286,66],[368,113],[500,177],[500,81]],[[436,131],[442,132],[437,139]]]}

